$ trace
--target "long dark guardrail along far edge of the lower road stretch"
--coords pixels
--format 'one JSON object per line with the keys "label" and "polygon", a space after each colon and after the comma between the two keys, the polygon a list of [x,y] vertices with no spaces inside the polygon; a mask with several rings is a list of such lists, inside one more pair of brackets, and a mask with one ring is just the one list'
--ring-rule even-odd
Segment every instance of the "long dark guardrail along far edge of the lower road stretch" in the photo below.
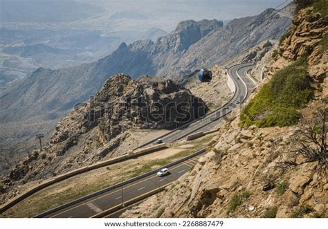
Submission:
{"label": "long dark guardrail along far edge of the lower road stretch", "polygon": [[142,178],[144,178],[144,177],[146,177],[146,176],[149,176],[149,175],[152,175],[152,174],[156,174],[156,172],[158,172],[158,170],[161,170],[161,169],[164,168],[164,167],[172,167],[172,166],[177,165],[177,164],[179,164],[179,163],[181,163],[181,162],[183,162],[183,161],[187,161],[188,159],[193,158],[194,156],[198,156],[198,155],[200,155],[200,154],[203,154],[203,152],[206,152],[206,149],[207,149],[207,148],[201,149],[201,150],[199,150],[198,152],[196,152],[196,153],[194,153],[194,154],[190,154],[189,156],[185,156],[184,158],[181,158],[181,159],[179,159],[178,161],[174,161],[174,162],[172,162],[172,163],[170,163],[170,164],[168,164],[168,165],[165,165],[165,166],[163,166],[163,167],[160,167],[160,168],[158,168],[158,169],[156,169],[156,170],[152,170],[152,171],[150,171],[150,172],[147,172],[147,173],[142,174],[142,175],[140,175],[140,176],[136,176],[136,177],[131,178],[131,179],[129,179],[129,180],[127,180],[127,181],[124,181],[124,182],[122,182],[122,183],[118,183],[118,184],[116,184],[116,185],[112,185],[112,186],[110,186],[110,187],[107,187],[107,188],[105,188],[105,189],[103,189],[103,190],[100,190],[100,191],[97,191],[97,192],[93,192],[93,193],[91,193],[91,194],[89,194],[89,195],[83,196],[83,197],[80,198],[80,199],[76,199],[76,200],[71,201],[71,202],[69,202],[69,203],[65,203],[65,204],[63,204],[63,205],[60,205],[60,206],[57,207],[57,208],[53,208],[53,209],[51,209],[51,210],[48,210],[48,211],[46,211],[46,212],[43,212],[42,214],[38,214],[38,215],[35,216],[34,218],[42,218],[42,217],[45,217],[45,216],[47,216],[48,214],[52,214],[52,213],[57,212],[57,211],[59,211],[59,210],[62,210],[62,209],[64,209],[64,208],[68,208],[68,207],[70,207],[71,205],[74,205],[74,204],[76,204],[76,203],[80,203],[80,202],[82,202],[82,201],[86,201],[87,199],[91,199],[91,198],[93,198],[94,196],[98,196],[98,195],[100,195],[100,194],[102,194],[102,193],[104,193],[104,192],[108,192],[108,191],[110,191],[110,190],[116,189],[117,187],[121,187],[122,185],[127,185],[128,183],[132,183],[132,182],[134,182],[134,181],[138,181],[138,180],[140,180],[140,179],[142,179]]}

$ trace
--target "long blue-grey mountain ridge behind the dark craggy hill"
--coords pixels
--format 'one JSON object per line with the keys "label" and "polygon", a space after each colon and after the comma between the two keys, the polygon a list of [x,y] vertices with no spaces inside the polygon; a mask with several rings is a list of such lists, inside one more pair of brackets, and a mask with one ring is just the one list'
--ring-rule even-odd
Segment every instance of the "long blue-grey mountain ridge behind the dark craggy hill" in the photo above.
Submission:
{"label": "long blue-grey mountain ridge behind the dark craggy hill", "polygon": [[[94,95],[117,73],[167,75],[179,79],[199,66],[238,55],[264,39],[278,39],[291,19],[273,9],[260,15],[222,21],[182,21],[156,42],[122,43],[111,55],[90,64],[37,71],[0,94],[0,136],[3,140],[46,133],[78,102]],[[206,60],[206,61],[205,61]],[[19,127],[19,128],[15,128]]]}

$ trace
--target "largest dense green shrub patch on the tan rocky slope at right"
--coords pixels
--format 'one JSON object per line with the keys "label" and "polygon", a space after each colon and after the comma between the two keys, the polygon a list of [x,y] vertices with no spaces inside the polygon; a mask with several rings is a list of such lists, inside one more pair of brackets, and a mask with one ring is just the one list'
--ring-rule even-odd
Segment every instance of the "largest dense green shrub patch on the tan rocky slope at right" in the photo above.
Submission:
{"label": "largest dense green shrub patch on the tan rocky slope at right", "polygon": [[307,75],[306,58],[301,57],[290,66],[277,71],[253,100],[245,107],[240,124],[249,127],[284,127],[294,125],[300,118],[298,109],[312,95]]}

